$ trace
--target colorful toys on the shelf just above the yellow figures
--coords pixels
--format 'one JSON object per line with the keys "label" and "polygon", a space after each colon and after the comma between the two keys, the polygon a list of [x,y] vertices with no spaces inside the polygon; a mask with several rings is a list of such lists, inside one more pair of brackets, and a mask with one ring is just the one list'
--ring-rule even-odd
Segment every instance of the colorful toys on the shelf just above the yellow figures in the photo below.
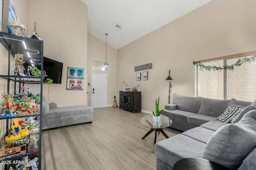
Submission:
{"label": "colorful toys on the shelf just above the yellow figures", "polygon": [[[9,117],[18,115],[34,115],[38,114],[37,105],[40,104],[39,96],[31,96],[30,88],[28,85],[21,87],[21,93],[17,96],[12,96],[12,94],[2,94],[4,98],[4,103],[1,104],[4,109],[0,117]],[[26,94],[31,97],[26,96]]]}

